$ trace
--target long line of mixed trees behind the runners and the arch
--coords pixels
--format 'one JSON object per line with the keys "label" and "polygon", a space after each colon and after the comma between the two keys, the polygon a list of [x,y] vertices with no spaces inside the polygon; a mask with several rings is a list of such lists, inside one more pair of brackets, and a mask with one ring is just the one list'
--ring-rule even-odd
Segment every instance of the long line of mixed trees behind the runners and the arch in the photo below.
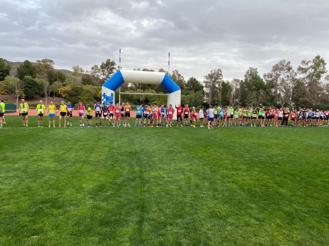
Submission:
{"label": "long line of mixed trees behind the runners and the arch", "polygon": [[[115,61],[107,59],[84,71],[79,66],[72,67],[72,73],[63,74],[53,69],[51,59],[36,60],[35,65],[26,60],[17,68],[17,76],[9,76],[10,67],[0,59],[0,93],[16,93],[19,97],[33,98],[37,95],[61,96],[77,103],[79,100],[93,103],[101,99],[101,87],[119,67]],[[155,71],[136,68],[141,71]],[[160,68],[159,72],[166,72]],[[273,107],[329,106],[329,75],[326,63],[317,55],[312,60],[302,60],[296,70],[290,61],[280,60],[272,69],[261,76],[257,68],[247,69],[243,78],[224,80],[222,69],[211,70],[203,81],[195,77],[187,80],[177,70],[170,77],[181,88],[182,104],[194,106],[239,105]],[[123,84],[121,92],[166,93],[159,85]],[[119,98],[118,91],[116,98]],[[122,100],[132,104],[165,104],[167,98],[160,95],[122,94]]]}

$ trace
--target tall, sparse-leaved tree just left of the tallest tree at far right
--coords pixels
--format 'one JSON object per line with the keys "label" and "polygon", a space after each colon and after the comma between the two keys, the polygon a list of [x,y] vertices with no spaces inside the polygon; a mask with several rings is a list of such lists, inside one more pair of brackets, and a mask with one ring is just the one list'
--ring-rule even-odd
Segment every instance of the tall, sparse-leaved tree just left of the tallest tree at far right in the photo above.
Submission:
{"label": "tall, sparse-leaved tree just left of the tallest tree at far right", "polygon": [[293,93],[296,73],[290,65],[290,61],[280,60],[272,67],[269,73],[264,74],[264,80],[275,98],[275,104],[289,105]]}

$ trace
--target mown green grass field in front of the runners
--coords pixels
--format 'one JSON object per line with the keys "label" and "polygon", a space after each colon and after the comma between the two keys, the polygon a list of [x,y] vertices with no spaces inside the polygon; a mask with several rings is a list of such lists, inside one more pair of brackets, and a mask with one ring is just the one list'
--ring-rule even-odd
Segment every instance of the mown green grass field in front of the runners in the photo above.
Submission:
{"label": "mown green grass field in front of the runners", "polygon": [[329,128],[6,119],[0,245],[329,244]]}

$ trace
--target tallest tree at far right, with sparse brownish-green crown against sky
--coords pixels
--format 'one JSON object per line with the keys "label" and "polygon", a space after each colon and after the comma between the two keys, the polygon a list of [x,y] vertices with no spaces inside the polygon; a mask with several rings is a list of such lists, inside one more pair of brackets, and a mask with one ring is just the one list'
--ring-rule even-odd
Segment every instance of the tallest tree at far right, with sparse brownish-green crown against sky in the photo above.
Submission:
{"label": "tallest tree at far right, with sparse brownish-green crown against sky", "polygon": [[301,65],[297,68],[300,79],[304,82],[307,90],[307,97],[315,105],[320,99],[322,92],[321,78],[327,72],[324,59],[317,55],[311,60],[302,60]]}

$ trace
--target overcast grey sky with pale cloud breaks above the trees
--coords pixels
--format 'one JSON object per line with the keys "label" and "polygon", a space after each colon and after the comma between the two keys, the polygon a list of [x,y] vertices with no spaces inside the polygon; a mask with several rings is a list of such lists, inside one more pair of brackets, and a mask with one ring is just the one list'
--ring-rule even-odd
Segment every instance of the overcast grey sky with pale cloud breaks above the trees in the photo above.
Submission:
{"label": "overcast grey sky with pale cloud breaks above the trees", "polygon": [[[203,79],[221,68],[242,78],[281,59],[296,68],[317,54],[329,63],[328,0],[0,0],[0,57],[51,58],[55,68],[177,69]],[[327,66],[328,67],[328,66]]]}

